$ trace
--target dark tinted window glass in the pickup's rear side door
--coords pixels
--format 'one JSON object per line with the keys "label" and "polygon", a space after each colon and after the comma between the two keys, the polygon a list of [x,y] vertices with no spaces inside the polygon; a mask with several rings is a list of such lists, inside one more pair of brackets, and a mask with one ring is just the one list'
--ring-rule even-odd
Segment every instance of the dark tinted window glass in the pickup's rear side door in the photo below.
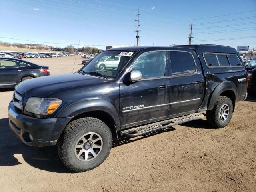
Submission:
{"label": "dark tinted window glass in the pickup's rear side door", "polygon": [[195,62],[189,52],[170,51],[171,74],[178,75],[196,71]]}

